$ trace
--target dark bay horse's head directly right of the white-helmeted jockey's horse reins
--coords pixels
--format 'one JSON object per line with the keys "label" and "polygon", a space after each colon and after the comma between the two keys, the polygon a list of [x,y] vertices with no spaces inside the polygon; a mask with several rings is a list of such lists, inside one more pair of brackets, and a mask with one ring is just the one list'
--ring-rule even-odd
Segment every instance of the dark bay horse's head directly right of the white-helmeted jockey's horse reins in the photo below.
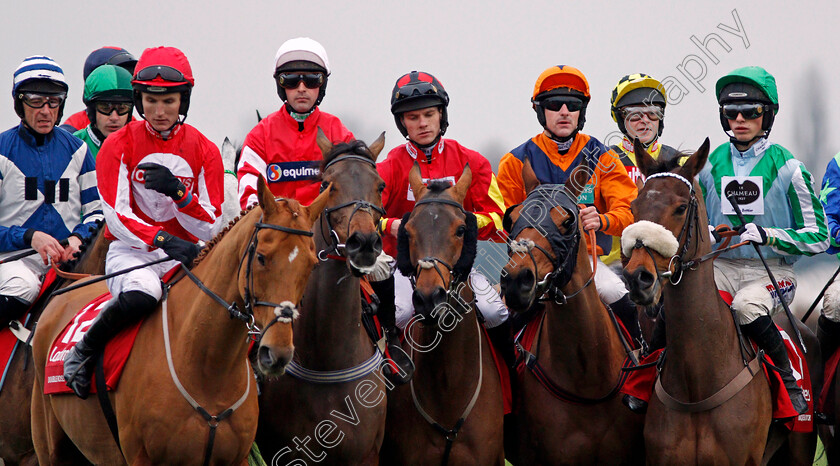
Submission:
{"label": "dark bay horse's head directly right of the white-helmeted jockey's horse reins", "polygon": [[333,145],[319,129],[317,142],[324,154],[321,186],[332,184],[320,226],[328,249],[319,254],[344,255],[351,272],[364,275],[382,252],[377,225],[385,215],[385,182],[376,171],[376,157],[385,146],[385,133],[370,147],[358,140]]}

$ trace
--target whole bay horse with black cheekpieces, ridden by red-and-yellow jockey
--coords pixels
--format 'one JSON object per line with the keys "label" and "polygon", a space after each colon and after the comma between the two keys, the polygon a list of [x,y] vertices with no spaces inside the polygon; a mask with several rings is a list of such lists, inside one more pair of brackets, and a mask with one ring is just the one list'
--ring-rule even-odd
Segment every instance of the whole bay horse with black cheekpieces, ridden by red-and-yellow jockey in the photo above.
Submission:
{"label": "whole bay horse with black cheekpieces, ridden by red-and-yellow jockey", "polygon": [[404,346],[415,372],[389,394],[383,464],[504,464],[501,381],[469,284],[471,181],[469,165],[454,186],[427,188],[416,163],[409,172],[418,201],[400,225],[397,264],[414,284]]}

